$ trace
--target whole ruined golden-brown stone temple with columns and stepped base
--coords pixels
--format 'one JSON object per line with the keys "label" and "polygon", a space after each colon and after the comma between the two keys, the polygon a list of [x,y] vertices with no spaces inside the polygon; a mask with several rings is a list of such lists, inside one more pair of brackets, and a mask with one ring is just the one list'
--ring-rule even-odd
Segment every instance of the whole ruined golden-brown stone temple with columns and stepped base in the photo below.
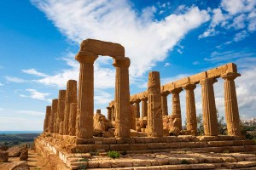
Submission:
{"label": "whole ruined golden-brown stone temple with columns and stepped base", "polygon": [[[94,108],[94,62],[99,56],[112,57],[116,71],[114,99],[106,105],[106,113]],[[160,84],[160,72],[150,71],[148,88],[131,95],[129,67],[132,61],[125,56],[122,45],[87,39],[81,42],[75,59],[80,64],[79,82],[69,80],[67,89],[60,90],[58,98],[46,107],[44,133],[35,140],[35,149],[44,156],[49,169],[256,166],[256,156],[247,154],[255,150],[256,145],[241,136],[235,84],[236,77],[241,75],[235,64],[166,84]],[[224,79],[227,135],[218,134],[213,86],[218,78]],[[198,87],[201,87],[203,136],[197,133],[194,91]],[[180,99],[181,93],[185,93],[185,101]],[[169,94],[171,101],[167,99]],[[172,113],[168,113],[168,107],[172,107]],[[110,159],[110,150],[122,156]]]}

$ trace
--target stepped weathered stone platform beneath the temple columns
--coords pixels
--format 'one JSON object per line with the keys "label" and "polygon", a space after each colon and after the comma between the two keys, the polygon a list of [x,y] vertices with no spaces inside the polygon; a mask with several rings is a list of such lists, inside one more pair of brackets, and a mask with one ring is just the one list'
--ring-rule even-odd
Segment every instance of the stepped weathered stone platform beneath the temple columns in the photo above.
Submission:
{"label": "stepped weathered stone platform beneath the temple columns", "polygon": [[[54,167],[53,169],[256,167],[254,141],[235,136],[79,139],[55,133],[43,133],[35,140],[35,149],[51,162],[49,164]],[[113,160],[107,156],[108,150],[117,150],[123,155]]]}

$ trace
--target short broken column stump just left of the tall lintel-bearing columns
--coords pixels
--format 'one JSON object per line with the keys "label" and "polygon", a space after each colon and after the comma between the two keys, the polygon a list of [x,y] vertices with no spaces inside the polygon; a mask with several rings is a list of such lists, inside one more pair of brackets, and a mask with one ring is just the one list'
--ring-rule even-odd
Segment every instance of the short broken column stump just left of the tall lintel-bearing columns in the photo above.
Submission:
{"label": "short broken column stump just left of the tall lintel-bearing columns", "polygon": [[77,103],[70,104],[70,125],[69,125],[69,135],[76,135],[76,122],[77,122]]}

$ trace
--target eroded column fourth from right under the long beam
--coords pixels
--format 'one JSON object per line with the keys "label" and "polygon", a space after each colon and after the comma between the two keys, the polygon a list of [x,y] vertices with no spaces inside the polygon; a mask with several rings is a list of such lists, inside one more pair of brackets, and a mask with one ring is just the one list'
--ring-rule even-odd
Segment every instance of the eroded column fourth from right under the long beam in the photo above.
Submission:
{"label": "eroded column fourth from right under the long beam", "polygon": [[183,129],[182,127],[182,119],[181,119],[181,110],[180,110],[180,100],[179,93],[183,91],[183,88],[174,88],[172,89],[172,116],[176,118],[175,126],[179,129]]}

